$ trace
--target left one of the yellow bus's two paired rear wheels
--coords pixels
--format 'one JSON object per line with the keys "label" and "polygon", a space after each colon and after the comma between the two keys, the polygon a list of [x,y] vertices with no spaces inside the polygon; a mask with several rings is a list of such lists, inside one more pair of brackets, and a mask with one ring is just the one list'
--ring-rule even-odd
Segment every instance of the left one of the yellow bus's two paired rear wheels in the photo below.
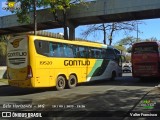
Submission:
{"label": "left one of the yellow bus's two paired rear wheels", "polygon": [[66,80],[63,76],[58,76],[56,81],[56,89],[57,90],[63,90],[66,86]]}

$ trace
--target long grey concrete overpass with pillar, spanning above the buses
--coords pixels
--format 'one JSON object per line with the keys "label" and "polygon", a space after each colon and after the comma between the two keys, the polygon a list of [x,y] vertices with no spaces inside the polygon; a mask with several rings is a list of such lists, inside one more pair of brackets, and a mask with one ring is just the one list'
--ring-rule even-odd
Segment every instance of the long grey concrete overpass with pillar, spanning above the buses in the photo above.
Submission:
{"label": "long grey concrete overpass with pillar, spanning above the buses", "polygon": [[[62,15],[59,16],[62,18]],[[160,18],[160,0],[97,0],[73,7],[67,15],[71,39],[75,37],[75,28],[79,25],[150,18]],[[62,27],[48,9],[37,11],[37,21],[38,30]],[[32,31],[33,26],[19,24],[16,15],[0,17],[0,35]]]}

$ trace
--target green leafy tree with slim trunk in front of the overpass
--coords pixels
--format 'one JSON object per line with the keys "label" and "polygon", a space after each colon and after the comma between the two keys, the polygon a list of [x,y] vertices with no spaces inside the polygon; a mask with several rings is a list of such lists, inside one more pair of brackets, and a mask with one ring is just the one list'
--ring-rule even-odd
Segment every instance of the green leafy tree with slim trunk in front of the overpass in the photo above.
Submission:
{"label": "green leafy tree with slim trunk in front of the overpass", "polygon": [[[49,8],[55,18],[55,20],[61,24],[64,28],[64,39],[68,39],[67,30],[67,10],[76,4],[82,3],[83,0],[8,0],[21,3],[21,9],[13,10],[13,13],[17,14],[18,21],[20,23],[29,23],[29,13],[34,10],[34,2],[38,8]],[[62,13],[63,19],[59,18],[58,11]]]}

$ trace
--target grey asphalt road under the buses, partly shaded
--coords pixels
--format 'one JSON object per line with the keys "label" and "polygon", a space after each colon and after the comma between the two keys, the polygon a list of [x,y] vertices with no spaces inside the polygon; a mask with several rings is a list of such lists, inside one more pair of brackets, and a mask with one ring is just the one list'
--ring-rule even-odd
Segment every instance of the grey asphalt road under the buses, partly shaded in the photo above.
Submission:
{"label": "grey asphalt road under the buses, partly shaded", "polygon": [[[131,73],[125,73],[123,77],[114,81],[80,84],[74,89],[65,89],[63,91],[56,91],[54,88],[22,89],[0,86],[0,111],[92,111],[90,117],[96,118],[101,112],[101,119],[107,117],[107,114],[112,119],[113,116],[118,117],[117,119],[123,119],[125,114],[158,84],[158,80],[144,82],[132,78]],[[32,107],[17,108],[18,105],[32,105]],[[52,112],[47,115],[52,116]],[[76,119],[81,118],[76,117]],[[84,117],[83,119],[88,118]]]}

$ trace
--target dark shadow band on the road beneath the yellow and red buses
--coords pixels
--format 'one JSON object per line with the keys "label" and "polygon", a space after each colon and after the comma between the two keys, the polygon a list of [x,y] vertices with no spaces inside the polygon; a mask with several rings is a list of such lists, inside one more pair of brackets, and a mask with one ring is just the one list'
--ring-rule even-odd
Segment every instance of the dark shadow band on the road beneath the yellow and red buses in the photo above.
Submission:
{"label": "dark shadow band on the road beneath the yellow and red buses", "polygon": [[[139,79],[135,79],[131,76],[123,76],[116,78],[116,80],[99,80],[99,81],[92,81],[87,83],[78,84],[79,86],[143,86],[143,87],[154,87],[159,84],[158,80],[146,80],[140,81]],[[18,87],[11,87],[7,85],[0,86],[0,96],[20,96],[20,95],[29,95],[29,94],[36,94],[36,93],[43,93],[48,91],[56,91],[55,88],[18,88]]]}

